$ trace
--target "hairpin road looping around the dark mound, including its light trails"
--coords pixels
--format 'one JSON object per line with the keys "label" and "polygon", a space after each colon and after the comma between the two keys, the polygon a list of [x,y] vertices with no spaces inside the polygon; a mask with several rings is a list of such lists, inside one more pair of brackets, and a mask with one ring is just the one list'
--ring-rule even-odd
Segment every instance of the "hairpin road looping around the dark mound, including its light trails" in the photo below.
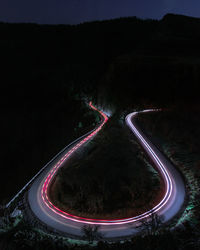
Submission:
{"label": "hairpin road looping around the dark mound, including its light trails", "polygon": [[[98,110],[90,102],[90,107],[100,113],[102,121],[98,127],[91,132],[77,139],[60,152],[43,171],[33,181],[29,192],[28,202],[34,215],[50,228],[58,231],[81,236],[81,228],[85,224],[100,225],[99,231],[105,238],[129,236],[138,232],[138,222],[149,217],[153,212],[164,216],[167,222],[173,218],[181,209],[185,198],[185,186],[179,172],[172,166],[167,158],[151,143],[135,122],[135,117],[141,112],[133,112],[126,117],[126,124],[137,137],[144,151],[154,162],[165,183],[165,194],[162,200],[151,210],[132,218],[118,220],[95,220],[78,217],[60,210],[49,199],[48,190],[50,183],[54,179],[57,171],[63,166],[72,155],[81,150],[104,126],[107,122],[107,115]],[[153,112],[145,110],[142,112]]]}

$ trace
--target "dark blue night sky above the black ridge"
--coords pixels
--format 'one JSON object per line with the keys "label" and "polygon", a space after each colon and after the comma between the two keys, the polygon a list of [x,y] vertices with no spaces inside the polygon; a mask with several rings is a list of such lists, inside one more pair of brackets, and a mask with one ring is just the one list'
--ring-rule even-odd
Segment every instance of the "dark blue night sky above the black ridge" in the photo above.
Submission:
{"label": "dark blue night sky above the black ridge", "polygon": [[200,17],[200,0],[0,0],[0,21],[75,24],[125,16]]}

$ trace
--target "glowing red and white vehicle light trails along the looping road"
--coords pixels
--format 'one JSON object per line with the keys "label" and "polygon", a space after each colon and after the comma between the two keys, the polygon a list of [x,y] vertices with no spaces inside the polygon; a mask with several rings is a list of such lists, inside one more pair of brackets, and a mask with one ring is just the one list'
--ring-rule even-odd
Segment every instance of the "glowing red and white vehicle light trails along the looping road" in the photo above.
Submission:
{"label": "glowing red and white vehicle light trails along the looping road", "polygon": [[[69,152],[67,152],[57,162],[57,164],[52,168],[52,170],[49,172],[48,176],[44,180],[44,183],[43,183],[42,189],[41,189],[41,196],[42,196],[42,200],[43,200],[44,204],[51,211],[53,211],[54,213],[58,214],[59,216],[62,216],[64,218],[66,218],[66,223],[67,223],[67,220],[72,220],[72,221],[80,222],[80,223],[98,224],[98,225],[120,225],[120,224],[127,224],[127,223],[137,222],[137,221],[142,220],[142,219],[144,219],[146,217],[149,217],[152,213],[156,213],[156,212],[160,211],[167,204],[167,202],[169,201],[169,199],[172,196],[173,182],[171,180],[170,174],[169,174],[167,168],[165,167],[165,165],[162,163],[162,161],[159,159],[159,157],[154,152],[152,147],[147,143],[147,141],[144,139],[144,137],[140,134],[138,129],[133,125],[133,123],[131,121],[131,119],[133,117],[135,117],[138,114],[138,112],[133,112],[133,113],[129,114],[126,117],[126,123],[130,127],[130,129],[133,131],[135,136],[138,138],[138,140],[141,142],[144,150],[154,160],[156,166],[158,167],[161,175],[164,178],[165,186],[166,186],[166,192],[165,192],[165,195],[164,195],[163,199],[155,207],[153,207],[152,209],[146,211],[145,213],[142,213],[142,214],[140,214],[138,216],[134,216],[134,217],[130,217],[130,218],[115,219],[115,220],[90,219],[90,218],[84,218],[84,217],[76,216],[76,215],[67,213],[65,211],[62,211],[61,209],[56,207],[50,201],[50,199],[48,197],[49,185],[50,185],[51,181],[53,180],[53,178],[55,177],[55,175],[56,175],[57,171],[59,170],[59,168],[64,163],[64,161],[66,159],[68,159],[76,150],[78,150],[80,147],[82,147],[87,141],[89,141],[93,136],[95,136],[102,129],[102,127],[104,126],[104,124],[108,120],[108,117],[106,116],[106,114],[104,114],[102,111],[100,111],[96,107],[94,107],[91,102],[89,103],[89,105],[93,110],[96,110],[101,114],[102,123],[100,124],[100,126],[97,129],[95,129],[93,132],[91,132],[91,134],[89,134],[86,138],[84,138],[79,143],[77,143]],[[152,111],[155,111],[155,110],[146,110],[146,111],[143,111],[143,112],[152,112]]]}

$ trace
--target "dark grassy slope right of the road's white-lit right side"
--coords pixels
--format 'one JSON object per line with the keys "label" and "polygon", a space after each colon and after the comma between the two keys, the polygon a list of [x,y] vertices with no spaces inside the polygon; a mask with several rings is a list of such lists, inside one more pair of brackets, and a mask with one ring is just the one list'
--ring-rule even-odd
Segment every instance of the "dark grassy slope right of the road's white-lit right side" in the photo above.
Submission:
{"label": "dark grassy slope right of the road's white-lit right side", "polygon": [[188,203],[178,225],[200,230],[200,106],[172,107],[168,111],[140,115],[138,121],[184,175]]}

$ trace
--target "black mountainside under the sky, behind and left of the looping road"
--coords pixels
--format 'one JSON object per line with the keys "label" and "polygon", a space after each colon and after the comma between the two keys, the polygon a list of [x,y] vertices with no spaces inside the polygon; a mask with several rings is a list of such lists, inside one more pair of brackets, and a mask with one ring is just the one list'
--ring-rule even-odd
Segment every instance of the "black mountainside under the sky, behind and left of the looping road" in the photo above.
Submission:
{"label": "black mountainside under the sky, behind and left of the looping road", "polygon": [[94,122],[80,109],[84,95],[120,109],[198,101],[199,44],[200,20],[176,15],[76,26],[0,23],[1,190],[10,179],[12,195],[76,136],[74,126]]}

